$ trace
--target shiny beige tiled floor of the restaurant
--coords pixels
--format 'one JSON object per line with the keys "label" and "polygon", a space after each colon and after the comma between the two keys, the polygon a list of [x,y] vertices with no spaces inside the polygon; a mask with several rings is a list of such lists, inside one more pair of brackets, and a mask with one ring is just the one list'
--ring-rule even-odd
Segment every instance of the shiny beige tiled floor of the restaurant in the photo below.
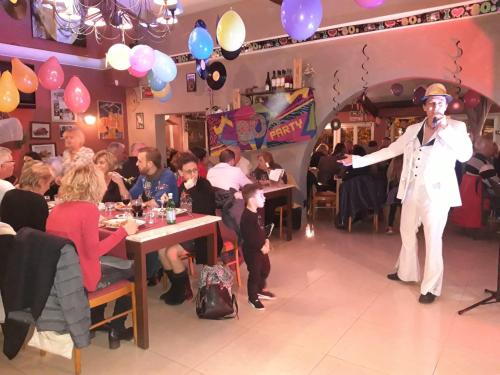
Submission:
{"label": "shiny beige tiled floor of the restaurant", "polygon": [[[275,239],[269,286],[279,299],[266,311],[252,310],[243,288],[239,320],[203,321],[192,302],[166,306],[150,288],[150,349],[111,351],[98,333],[83,351],[84,374],[500,374],[500,304],[456,313],[495,288],[498,240],[448,228],[443,296],[425,306],[417,284],[385,277],[397,235],[373,234],[369,223],[348,234],[326,221],[315,234]],[[13,361],[0,355],[2,375],[72,368],[32,349]]]}

